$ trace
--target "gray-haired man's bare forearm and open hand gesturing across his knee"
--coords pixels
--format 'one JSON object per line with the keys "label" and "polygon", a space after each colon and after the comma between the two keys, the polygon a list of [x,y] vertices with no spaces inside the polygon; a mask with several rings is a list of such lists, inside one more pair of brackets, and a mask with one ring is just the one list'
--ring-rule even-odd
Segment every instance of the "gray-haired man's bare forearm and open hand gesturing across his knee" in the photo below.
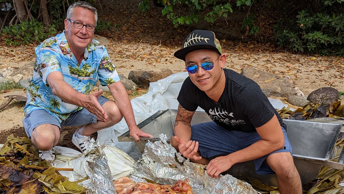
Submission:
{"label": "gray-haired man's bare forearm and open hand gesturing across his knee", "polygon": [[106,121],[108,119],[103,107],[100,106],[97,100],[98,96],[100,96],[103,91],[98,91],[89,95],[81,94],[63,80],[63,75],[60,71],[51,72],[47,76],[46,81],[53,91],[53,94],[66,103],[86,108],[90,113],[96,115],[99,120]]}

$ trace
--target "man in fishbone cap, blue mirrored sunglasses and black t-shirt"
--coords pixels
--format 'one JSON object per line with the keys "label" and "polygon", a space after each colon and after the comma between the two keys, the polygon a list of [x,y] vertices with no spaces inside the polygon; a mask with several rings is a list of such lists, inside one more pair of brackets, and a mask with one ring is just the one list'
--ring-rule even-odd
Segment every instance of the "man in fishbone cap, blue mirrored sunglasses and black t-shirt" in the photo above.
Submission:
{"label": "man in fishbone cap, blue mirrored sunglasses and black t-shirt", "polygon": [[[301,194],[286,125],[253,80],[224,69],[226,55],[212,31],[194,30],[174,53],[189,77],[180,90],[171,144],[217,178],[236,163],[254,160],[257,174],[276,173],[282,194]],[[191,126],[201,107],[213,120]]]}

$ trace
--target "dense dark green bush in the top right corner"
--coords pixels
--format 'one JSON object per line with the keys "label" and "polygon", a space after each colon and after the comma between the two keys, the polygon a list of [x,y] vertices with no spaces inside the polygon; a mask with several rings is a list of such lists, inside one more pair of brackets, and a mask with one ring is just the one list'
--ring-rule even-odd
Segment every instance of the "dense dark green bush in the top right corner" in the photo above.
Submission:
{"label": "dense dark green bush in the top right corner", "polygon": [[319,9],[298,10],[275,26],[277,45],[297,52],[344,56],[344,0],[320,0]]}

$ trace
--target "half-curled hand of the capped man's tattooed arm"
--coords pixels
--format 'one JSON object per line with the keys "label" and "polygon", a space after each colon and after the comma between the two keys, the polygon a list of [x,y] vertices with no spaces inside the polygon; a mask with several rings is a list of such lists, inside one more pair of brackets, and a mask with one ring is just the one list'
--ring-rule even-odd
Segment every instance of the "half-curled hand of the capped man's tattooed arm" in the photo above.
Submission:
{"label": "half-curled hand of the capped man's tattooed arm", "polygon": [[181,140],[177,136],[174,136],[173,138],[178,143],[179,152],[184,157],[192,158],[194,160],[202,159],[201,156],[196,156],[196,153],[198,151],[198,142],[191,141],[191,140],[189,142],[185,142],[184,140]]}

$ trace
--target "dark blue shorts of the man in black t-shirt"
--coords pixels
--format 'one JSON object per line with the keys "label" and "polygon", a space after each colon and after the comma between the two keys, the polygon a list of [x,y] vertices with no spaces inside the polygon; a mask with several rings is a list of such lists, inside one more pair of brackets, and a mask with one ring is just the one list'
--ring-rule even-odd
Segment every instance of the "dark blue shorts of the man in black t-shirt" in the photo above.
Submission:
{"label": "dark blue shorts of the man in black t-shirt", "polygon": [[[270,166],[264,161],[274,153],[290,152],[292,150],[286,130],[282,128],[284,134],[284,148],[272,152],[261,158],[254,160],[256,173],[260,175],[274,174]],[[244,133],[240,131],[228,131],[215,122],[200,123],[191,126],[191,140],[199,143],[198,149],[202,157],[213,158],[214,156],[228,155],[240,149],[244,149],[261,139],[257,132]]]}

